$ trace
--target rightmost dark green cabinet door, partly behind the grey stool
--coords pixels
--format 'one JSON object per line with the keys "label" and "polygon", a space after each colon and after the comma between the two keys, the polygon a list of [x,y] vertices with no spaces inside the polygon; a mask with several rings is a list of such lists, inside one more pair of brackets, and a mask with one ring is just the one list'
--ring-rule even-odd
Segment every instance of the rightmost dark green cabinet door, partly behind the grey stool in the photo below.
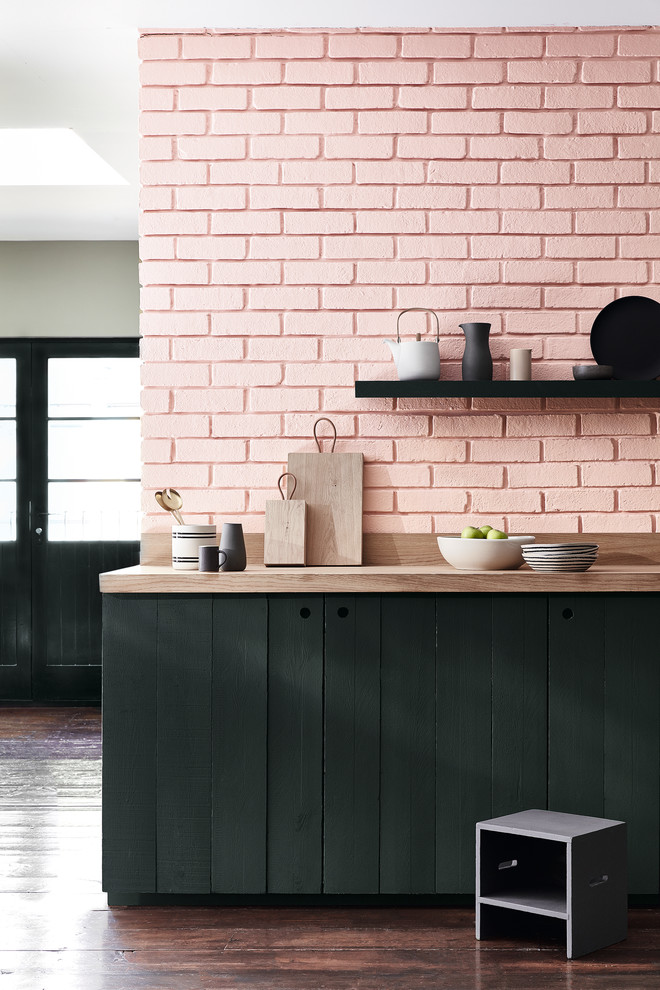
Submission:
{"label": "rightmost dark green cabinet door, partly behind the grey stool", "polygon": [[549,805],[627,822],[633,894],[658,892],[659,601],[550,599]]}

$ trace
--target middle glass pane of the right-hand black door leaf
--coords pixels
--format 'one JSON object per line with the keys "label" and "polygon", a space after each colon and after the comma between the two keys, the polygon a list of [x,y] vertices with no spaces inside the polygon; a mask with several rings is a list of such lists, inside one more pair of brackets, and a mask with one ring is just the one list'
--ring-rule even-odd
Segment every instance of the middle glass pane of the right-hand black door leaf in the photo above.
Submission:
{"label": "middle glass pane of the right-hand black door leaf", "polygon": [[140,477],[139,420],[51,420],[48,424],[48,477],[137,480]]}

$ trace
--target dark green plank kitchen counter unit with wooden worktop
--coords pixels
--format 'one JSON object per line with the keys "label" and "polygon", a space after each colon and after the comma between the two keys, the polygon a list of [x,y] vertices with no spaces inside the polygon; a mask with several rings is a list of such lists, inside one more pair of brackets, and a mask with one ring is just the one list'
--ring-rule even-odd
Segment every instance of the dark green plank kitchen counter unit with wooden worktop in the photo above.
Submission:
{"label": "dark green plank kitchen counter unit with wooden worktop", "polygon": [[145,540],[101,576],[110,902],[469,895],[475,822],[532,807],[627,821],[657,899],[660,536],[594,539],[584,574],[430,536],[199,574]]}

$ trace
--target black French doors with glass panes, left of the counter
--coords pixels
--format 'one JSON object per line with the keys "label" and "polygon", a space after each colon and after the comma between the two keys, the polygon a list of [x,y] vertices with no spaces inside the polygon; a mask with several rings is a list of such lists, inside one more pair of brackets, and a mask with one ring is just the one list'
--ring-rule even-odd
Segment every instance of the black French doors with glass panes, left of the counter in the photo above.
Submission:
{"label": "black French doors with glass panes, left of the counter", "polygon": [[102,571],[139,556],[132,339],[0,340],[0,700],[101,697]]}

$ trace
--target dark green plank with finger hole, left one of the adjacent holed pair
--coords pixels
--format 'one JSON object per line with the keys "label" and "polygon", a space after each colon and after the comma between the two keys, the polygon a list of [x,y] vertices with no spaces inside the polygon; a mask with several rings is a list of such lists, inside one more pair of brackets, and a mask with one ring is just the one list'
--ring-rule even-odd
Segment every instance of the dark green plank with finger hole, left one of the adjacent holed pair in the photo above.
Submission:
{"label": "dark green plank with finger hole, left one of the adjacent holed pair", "polygon": [[268,610],[268,890],[321,890],[323,598]]}

